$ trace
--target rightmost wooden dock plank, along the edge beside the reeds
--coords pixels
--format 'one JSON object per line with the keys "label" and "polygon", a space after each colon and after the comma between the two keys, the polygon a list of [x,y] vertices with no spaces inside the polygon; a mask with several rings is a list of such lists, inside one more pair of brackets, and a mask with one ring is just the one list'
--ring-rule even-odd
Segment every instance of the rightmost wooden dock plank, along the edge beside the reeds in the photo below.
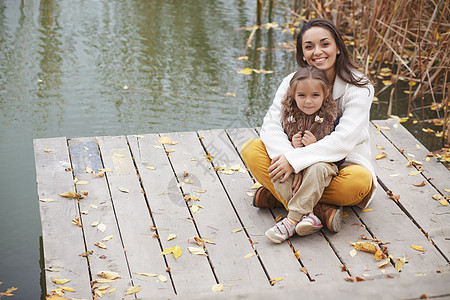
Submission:
{"label": "rightmost wooden dock plank, along the edge beside the reeds", "polygon": [[377,126],[390,128],[390,130],[381,129],[381,133],[392,141],[398,149],[404,149],[403,155],[410,160],[421,162],[423,169],[422,176],[424,180],[431,178],[429,182],[436,187],[442,195],[448,195],[444,189],[450,189],[450,172],[436,158],[429,157],[426,160],[429,150],[422,145],[405,127],[395,120],[373,121]]}

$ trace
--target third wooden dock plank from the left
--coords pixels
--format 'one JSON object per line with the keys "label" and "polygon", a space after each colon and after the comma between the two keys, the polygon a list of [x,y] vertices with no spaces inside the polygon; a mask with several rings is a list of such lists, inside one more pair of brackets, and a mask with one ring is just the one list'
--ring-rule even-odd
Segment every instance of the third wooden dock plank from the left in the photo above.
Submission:
{"label": "third wooden dock plank from the left", "polygon": [[[161,282],[156,278],[139,280],[138,273],[153,273],[169,277],[166,273],[162,249],[151,230],[153,222],[142,193],[139,178],[124,136],[98,137],[100,152],[107,172],[109,189],[120,228],[123,245],[128,259],[133,284],[140,285],[142,290],[138,297],[173,295],[170,278]],[[124,192],[125,191],[125,192]]]}

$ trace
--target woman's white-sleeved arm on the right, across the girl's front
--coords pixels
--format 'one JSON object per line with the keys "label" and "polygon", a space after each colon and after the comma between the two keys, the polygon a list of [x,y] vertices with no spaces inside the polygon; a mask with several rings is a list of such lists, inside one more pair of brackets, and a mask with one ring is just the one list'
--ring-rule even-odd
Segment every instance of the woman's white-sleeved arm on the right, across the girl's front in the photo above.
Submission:
{"label": "woman's white-sleeved arm on the right, across the girl's front", "polygon": [[345,158],[359,144],[369,138],[370,106],[374,90],[351,86],[342,96],[342,117],[330,135],[308,147],[291,149],[284,155],[295,172],[319,162],[334,162]]}

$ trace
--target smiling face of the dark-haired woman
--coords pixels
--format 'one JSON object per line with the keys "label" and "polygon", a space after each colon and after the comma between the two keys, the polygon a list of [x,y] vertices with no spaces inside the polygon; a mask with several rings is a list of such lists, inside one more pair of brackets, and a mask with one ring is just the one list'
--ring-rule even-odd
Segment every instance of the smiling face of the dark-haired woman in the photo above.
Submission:
{"label": "smiling face of the dark-haired woman", "polygon": [[[302,36],[303,60],[328,75],[334,74],[336,56],[340,53],[331,33],[322,27],[311,27]],[[330,77],[329,77],[330,78]]]}

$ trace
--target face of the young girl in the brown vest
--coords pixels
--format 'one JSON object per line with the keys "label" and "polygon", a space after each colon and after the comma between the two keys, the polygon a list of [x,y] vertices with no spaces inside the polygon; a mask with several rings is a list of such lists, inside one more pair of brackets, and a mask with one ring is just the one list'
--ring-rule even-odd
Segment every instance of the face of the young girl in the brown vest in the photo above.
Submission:
{"label": "face of the young girl in the brown vest", "polygon": [[295,88],[295,103],[297,107],[307,115],[312,115],[321,107],[323,101],[328,97],[323,83],[317,79],[306,79],[297,82]]}

